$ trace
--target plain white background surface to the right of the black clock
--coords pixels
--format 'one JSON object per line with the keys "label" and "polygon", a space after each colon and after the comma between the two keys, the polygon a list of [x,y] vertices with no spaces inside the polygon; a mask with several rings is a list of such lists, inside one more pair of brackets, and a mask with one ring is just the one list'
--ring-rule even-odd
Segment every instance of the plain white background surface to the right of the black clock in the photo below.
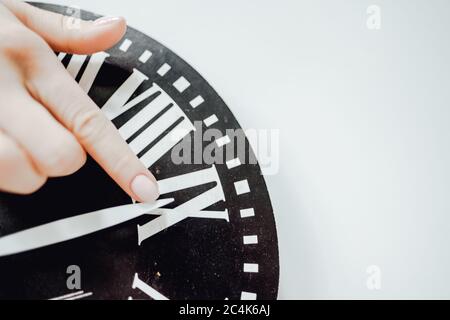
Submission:
{"label": "plain white background surface to the right of the black clock", "polygon": [[448,1],[58,2],[125,16],[281,130],[279,298],[450,298]]}

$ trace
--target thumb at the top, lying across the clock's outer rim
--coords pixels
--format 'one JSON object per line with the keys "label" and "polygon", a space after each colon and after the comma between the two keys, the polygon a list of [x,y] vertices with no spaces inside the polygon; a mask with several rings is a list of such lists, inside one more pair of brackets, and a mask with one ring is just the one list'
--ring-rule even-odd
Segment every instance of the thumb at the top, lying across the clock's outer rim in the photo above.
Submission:
{"label": "thumb at the top, lying across the clock's outer rim", "polygon": [[103,51],[114,46],[126,31],[126,21],[122,17],[83,21],[42,10],[22,1],[1,1],[56,51],[76,54]]}

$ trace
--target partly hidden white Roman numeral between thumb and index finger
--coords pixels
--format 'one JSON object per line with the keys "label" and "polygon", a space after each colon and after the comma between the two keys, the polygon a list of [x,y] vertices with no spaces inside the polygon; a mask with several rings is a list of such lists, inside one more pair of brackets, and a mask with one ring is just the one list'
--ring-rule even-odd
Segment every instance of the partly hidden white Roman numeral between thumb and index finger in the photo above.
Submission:
{"label": "partly hidden white Roman numeral between thumb and index finger", "polygon": [[[59,58],[62,60],[65,57],[64,53],[60,53]],[[86,69],[83,72],[83,75],[80,79],[80,87],[85,91],[89,92],[91,90],[92,84],[97,77],[100,68],[103,63],[105,63],[106,58],[109,57],[109,54],[106,52],[98,52],[92,56],[90,56],[89,62],[86,66]],[[67,66],[67,71],[70,75],[75,79],[79,73],[83,65],[86,63],[88,56],[86,55],[76,55],[74,54],[69,61],[69,65]]]}

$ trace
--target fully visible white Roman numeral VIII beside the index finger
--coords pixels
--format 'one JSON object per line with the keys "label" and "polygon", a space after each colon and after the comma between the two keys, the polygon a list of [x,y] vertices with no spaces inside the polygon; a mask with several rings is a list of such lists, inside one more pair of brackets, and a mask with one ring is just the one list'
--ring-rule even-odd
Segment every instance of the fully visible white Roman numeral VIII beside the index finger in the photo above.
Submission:
{"label": "fully visible white Roman numeral VIII beside the index finger", "polygon": [[[102,111],[112,120],[147,98],[159,94],[119,128],[121,136],[128,140],[146,126],[147,123],[153,121],[130,143],[131,149],[138,155],[159,138],[150,150],[140,155],[144,165],[150,168],[166,152],[180,142],[183,137],[194,131],[195,127],[175,101],[156,83],[153,83],[150,88],[129,101],[133,93],[147,80],[148,77],[146,75],[134,69],[130,77],[105,103]],[[164,110],[166,111],[155,119]],[[170,133],[164,134],[169,128],[171,128]]]}

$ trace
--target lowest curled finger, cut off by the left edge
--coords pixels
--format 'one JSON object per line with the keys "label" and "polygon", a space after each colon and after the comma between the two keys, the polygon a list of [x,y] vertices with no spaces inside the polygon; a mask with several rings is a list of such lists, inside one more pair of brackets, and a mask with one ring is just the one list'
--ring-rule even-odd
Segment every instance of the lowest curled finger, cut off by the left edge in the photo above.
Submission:
{"label": "lowest curled finger, cut off by the left edge", "polygon": [[0,190],[30,194],[46,181],[27,158],[20,146],[0,132]]}

